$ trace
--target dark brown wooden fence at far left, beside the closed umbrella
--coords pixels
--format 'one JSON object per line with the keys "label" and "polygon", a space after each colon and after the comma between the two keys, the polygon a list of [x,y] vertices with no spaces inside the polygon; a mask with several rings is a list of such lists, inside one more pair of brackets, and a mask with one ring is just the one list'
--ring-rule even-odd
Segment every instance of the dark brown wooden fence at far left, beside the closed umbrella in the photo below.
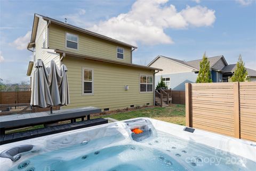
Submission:
{"label": "dark brown wooden fence at far left, beside the closed umbrella", "polygon": [[30,103],[31,91],[0,92],[0,104]]}

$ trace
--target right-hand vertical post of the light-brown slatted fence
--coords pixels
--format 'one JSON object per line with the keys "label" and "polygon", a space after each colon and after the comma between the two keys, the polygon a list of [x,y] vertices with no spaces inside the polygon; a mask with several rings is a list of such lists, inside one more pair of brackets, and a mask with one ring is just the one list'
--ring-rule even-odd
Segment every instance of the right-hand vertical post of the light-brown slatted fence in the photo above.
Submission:
{"label": "right-hand vertical post of the light-brown slatted fence", "polygon": [[240,139],[239,82],[234,82],[234,136]]}

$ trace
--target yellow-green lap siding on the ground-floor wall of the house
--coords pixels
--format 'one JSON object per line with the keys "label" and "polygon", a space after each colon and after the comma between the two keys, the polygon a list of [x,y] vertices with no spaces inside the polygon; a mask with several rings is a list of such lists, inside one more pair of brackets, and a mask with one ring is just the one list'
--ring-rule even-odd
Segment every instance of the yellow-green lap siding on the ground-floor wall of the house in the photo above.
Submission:
{"label": "yellow-green lap siding on the ground-floor wall of the house", "polygon": [[[118,64],[103,63],[92,60],[66,56],[63,63],[68,68],[70,104],[65,108],[93,106],[110,110],[124,109],[130,105],[154,103],[154,94],[139,92],[140,74],[153,76],[147,69],[140,69]],[[82,94],[82,68],[93,69],[94,94]],[[124,86],[129,85],[125,91]]]}

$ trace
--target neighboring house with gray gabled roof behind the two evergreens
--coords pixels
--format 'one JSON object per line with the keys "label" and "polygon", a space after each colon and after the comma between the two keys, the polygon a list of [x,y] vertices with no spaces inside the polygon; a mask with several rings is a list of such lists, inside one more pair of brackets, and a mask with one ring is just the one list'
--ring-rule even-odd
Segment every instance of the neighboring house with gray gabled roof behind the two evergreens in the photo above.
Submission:
{"label": "neighboring house with gray gabled roof behind the two evergreens", "polygon": [[[155,75],[155,85],[157,85],[162,76],[168,88],[184,91],[185,83],[196,82],[201,60],[181,61],[159,55],[148,64],[148,67],[163,69],[163,71],[159,71]],[[228,82],[228,78],[234,73],[236,64],[228,65],[223,55],[214,56],[208,58],[208,60],[210,61],[213,82]],[[247,71],[251,81],[255,80],[256,71],[252,69],[247,69]]]}

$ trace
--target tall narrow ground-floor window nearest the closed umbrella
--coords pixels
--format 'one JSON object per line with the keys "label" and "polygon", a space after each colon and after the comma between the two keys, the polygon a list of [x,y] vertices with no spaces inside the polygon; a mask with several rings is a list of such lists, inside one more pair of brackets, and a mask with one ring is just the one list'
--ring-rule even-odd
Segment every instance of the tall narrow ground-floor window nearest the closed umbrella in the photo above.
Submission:
{"label": "tall narrow ground-floor window nearest the closed umbrella", "polygon": [[93,93],[93,70],[83,69],[83,93]]}

